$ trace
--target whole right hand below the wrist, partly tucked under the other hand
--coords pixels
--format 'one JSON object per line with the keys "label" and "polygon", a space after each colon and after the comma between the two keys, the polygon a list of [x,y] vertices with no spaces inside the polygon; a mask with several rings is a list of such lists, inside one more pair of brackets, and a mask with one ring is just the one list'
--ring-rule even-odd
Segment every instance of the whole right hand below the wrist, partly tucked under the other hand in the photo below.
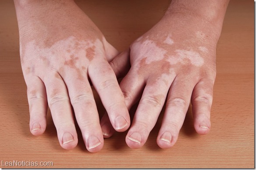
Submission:
{"label": "whole right hand below the wrist, partly tucked under the other hand", "polygon": [[[176,143],[190,100],[196,132],[206,134],[210,131],[216,45],[222,23],[213,25],[202,17],[191,16],[189,13],[166,15],[139,37],[130,46],[130,51],[111,62],[118,68],[120,58],[130,54],[131,69],[120,87],[128,109],[141,97],[126,136],[126,143],[131,148],[146,143],[166,100],[157,137],[161,148]],[[104,137],[113,135],[107,115],[100,124]]]}

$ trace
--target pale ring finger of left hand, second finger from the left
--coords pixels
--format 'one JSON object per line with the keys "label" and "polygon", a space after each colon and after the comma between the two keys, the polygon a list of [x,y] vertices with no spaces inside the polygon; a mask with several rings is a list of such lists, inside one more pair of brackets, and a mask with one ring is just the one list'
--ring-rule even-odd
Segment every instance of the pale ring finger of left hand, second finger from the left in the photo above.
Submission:
{"label": "pale ring finger of left hand, second finger from the left", "polygon": [[73,149],[78,139],[67,88],[57,72],[49,71],[43,82],[60,146],[66,150]]}

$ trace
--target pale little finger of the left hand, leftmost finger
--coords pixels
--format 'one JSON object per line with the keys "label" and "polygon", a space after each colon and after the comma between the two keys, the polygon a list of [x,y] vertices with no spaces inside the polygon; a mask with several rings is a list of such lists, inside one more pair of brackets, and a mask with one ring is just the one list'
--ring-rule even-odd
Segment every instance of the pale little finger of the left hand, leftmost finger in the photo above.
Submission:
{"label": "pale little finger of the left hand, leftmost finger", "polygon": [[41,135],[46,129],[47,97],[42,80],[37,76],[26,79],[30,113],[30,132]]}

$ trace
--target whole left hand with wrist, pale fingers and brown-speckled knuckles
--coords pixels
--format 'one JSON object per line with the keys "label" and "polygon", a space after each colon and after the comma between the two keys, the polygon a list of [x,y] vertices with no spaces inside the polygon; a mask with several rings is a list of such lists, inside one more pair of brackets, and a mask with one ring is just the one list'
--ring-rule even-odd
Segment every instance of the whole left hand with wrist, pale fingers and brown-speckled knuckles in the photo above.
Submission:
{"label": "whole left hand with wrist, pale fingers and brown-speckled knuckles", "polygon": [[45,131],[48,103],[64,149],[78,143],[76,118],[87,150],[99,151],[103,134],[89,79],[114,129],[123,132],[130,125],[124,96],[108,63],[117,50],[73,1],[15,1],[15,7],[31,133]]}

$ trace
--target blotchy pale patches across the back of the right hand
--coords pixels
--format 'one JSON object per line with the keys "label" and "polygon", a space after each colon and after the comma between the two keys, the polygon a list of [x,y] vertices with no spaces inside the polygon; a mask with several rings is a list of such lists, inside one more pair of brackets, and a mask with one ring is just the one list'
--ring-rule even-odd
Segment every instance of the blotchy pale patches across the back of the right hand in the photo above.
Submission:
{"label": "blotchy pale patches across the back of the right hand", "polygon": [[[165,36],[165,40],[167,38],[168,36]],[[150,78],[153,77],[155,79],[155,82],[152,82],[153,84],[163,81],[165,85],[170,86],[171,82],[168,81],[168,77],[169,79],[175,77],[175,73],[177,74],[181,71],[188,74],[192,69],[198,70],[204,64],[202,56],[193,51],[193,48],[187,47],[190,50],[176,49],[170,51],[172,48],[166,45],[161,46],[161,44],[166,43],[158,42],[156,44],[154,41],[147,39],[142,40],[142,42],[135,41],[132,44],[132,51],[136,51],[136,54],[131,53],[131,56],[138,56],[137,58],[135,57],[135,61],[141,58],[137,66],[139,77],[147,78],[150,72]],[[179,70],[178,68],[182,69]],[[197,71],[194,72],[198,73]],[[164,79],[163,75],[165,75]]]}

